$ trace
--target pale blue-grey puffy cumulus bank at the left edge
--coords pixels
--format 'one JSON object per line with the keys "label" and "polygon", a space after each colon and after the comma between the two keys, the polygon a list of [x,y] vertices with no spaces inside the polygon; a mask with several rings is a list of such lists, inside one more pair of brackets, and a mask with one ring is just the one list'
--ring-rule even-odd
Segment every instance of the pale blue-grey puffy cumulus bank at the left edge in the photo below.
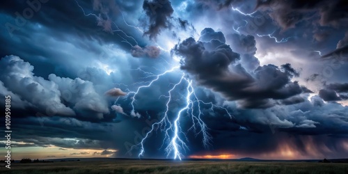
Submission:
{"label": "pale blue-grey puffy cumulus bank at the left edge", "polygon": [[49,74],[48,80],[37,77],[33,74],[33,66],[18,56],[1,58],[0,67],[3,87],[13,94],[19,107],[25,106],[48,115],[89,113],[96,116],[97,113],[109,113],[106,101],[95,92],[90,81],[57,77],[55,74]]}

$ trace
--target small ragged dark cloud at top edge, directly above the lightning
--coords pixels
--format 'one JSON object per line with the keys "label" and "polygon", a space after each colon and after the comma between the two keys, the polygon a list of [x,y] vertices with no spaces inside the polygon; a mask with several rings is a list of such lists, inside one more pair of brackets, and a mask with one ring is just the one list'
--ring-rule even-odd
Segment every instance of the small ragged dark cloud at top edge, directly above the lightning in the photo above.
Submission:
{"label": "small ragged dark cloud at top edge, directly above the lightning", "polygon": [[162,29],[167,29],[171,26],[169,19],[174,10],[171,6],[171,2],[168,0],[145,0],[143,3],[143,10],[149,17],[148,31],[145,31],[146,35],[149,35],[150,39],[155,39]]}

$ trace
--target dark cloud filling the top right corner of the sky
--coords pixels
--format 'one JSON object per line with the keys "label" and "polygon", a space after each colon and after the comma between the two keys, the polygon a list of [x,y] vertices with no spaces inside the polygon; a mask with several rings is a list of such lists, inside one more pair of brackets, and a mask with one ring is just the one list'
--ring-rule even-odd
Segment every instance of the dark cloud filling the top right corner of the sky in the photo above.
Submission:
{"label": "dark cloud filling the top right corner of the sky", "polygon": [[348,19],[347,1],[258,1],[257,8],[271,9],[269,14],[283,29],[294,28],[305,19],[319,15],[317,22],[324,25],[345,25]]}

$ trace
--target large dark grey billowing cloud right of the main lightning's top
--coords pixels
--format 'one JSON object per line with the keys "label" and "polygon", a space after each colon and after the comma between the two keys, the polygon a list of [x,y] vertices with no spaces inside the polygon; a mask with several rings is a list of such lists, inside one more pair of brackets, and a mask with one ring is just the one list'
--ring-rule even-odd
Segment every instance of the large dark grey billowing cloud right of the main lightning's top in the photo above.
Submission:
{"label": "large dark grey billowing cloud right of the main lightning's top", "polygon": [[227,100],[237,100],[244,108],[267,108],[274,105],[272,100],[303,93],[297,81],[290,81],[299,75],[290,64],[280,68],[263,65],[248,73],[236,63],[239,54],[217,39],[201,42],[188,38],[173,49],[182,56],[181,69],[192,74],[198,84],[223,94]]}

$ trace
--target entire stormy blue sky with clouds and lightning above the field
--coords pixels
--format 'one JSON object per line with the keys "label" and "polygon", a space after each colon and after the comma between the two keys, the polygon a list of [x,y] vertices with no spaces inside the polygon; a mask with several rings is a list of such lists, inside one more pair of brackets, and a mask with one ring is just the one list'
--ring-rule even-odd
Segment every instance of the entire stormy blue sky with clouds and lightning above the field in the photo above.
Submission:
{"label": "entire stormy blue sky with clouds and lightning above the field", "polygon": [[3,1],[12,156],[347,158],[347,8]]}

